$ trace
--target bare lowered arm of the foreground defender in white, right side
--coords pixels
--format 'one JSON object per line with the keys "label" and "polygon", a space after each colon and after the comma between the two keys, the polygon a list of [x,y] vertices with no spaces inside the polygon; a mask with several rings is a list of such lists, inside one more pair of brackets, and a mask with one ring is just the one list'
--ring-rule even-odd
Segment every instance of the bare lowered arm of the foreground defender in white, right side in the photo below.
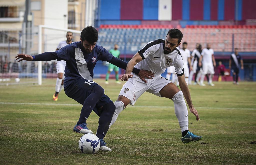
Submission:
{"label": "bare lowered arm of the foreground defender in white, right side", "polygon": [[196,116],[197,121],[200,120],[199,114],[198,114],[197,110],[194,108],[194,105],[192,103],[188,85],[187,85],[187,82],[185,81],[185,75],[178,76],[178,80],[179,80],[180,89],[183,92],[183,95],[188,103],[190,112]]}

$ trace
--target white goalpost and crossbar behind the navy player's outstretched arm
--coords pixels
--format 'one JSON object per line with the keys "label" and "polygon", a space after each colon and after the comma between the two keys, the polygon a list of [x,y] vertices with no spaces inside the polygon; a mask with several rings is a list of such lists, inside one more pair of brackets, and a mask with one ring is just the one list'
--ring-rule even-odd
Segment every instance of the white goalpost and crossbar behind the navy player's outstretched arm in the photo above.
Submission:
{"label": "white goalpost and crossbar behind the navy player's outstretched arm", "polygon": [[[46,31],[47,32],[51,31],[51,33],[54,33],[54,31],[56,31],[55,33],[57,33],[58,35],[62,35],[61,38],[65,38],[66,33],[68,31],[70,31],[73,34],[76,34],[76,35],[73,35],[73,40],[74,41],[79,41],[80,40],[79,38],[80,38],[81,31],[79,31],[79,30],[55,28],[55,27],[50,27],[50,26],[46,26],[46,25],[39,25],[39,29],[38,29],[38,54],[43,53],[42,52],[42,47],[44,46],[43,45],[43,40],[44,39],[42,38],[43,29],[44,29],[45,33],[46,33]],[[57,45],[61,41],[61,40],[57,41],[57,39],[49,39],[49,40],[51,40],[52,42],[55,43],[55,45],[54,44],[52,44],[52,45],[49,44],[51,47],[55,46],[55,49],[57,48]],[[45,50],[47,50],[47,49],[45,48]],[[54,51],[54,50],[51,49],[51,51]],[[42,61],[38,61],[38,85],[42,85],[42,73],[43,73],[43,71],[42,71]]]}

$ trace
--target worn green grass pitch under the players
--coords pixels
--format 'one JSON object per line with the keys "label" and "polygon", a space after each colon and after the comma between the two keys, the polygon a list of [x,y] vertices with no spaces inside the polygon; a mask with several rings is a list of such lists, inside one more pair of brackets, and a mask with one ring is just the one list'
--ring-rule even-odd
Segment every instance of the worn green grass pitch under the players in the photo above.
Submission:
{"label": "worn green grass pitch under the players", "polygon": [[[0,102],[56,105],[0,104],[0,164],[255,164],[256,83],[216,82],[215,87],[189,86],[201,121],[189,112],[189,129],[204,136],[183,144],[174,104],[144,93],[128,106],[105,137],[111,152],[83,154],[81,134],[73,133],[82,105],[62,91],[52,101],[55,79],[42,86],[0,86]],[[95,79],[113,101],[122,88]],[[21,80],[22,82],[22,80]],[[58,104],[76,104],[73,106]],[[138,106],[140,105],[140,106]],[[231,109],[233,108],[233,109]],[[96,133],[98,116],[88,127]]]}

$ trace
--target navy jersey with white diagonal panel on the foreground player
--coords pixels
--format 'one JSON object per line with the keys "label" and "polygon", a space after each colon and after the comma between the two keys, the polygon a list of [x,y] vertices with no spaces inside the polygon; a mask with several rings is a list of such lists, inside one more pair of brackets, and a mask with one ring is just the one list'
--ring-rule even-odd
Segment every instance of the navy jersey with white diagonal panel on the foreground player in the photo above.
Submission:
{"label": "navy jersey with white diagonal panel on the foreground player", "polygon": [[65,84],[73,78],[93,79],[93,69],[98,60],[110,61],[113,55],[100,45],[95,45],[91,53],[86,53],[82,42],[74,42],[56,51],[58,61],[65,60]]}

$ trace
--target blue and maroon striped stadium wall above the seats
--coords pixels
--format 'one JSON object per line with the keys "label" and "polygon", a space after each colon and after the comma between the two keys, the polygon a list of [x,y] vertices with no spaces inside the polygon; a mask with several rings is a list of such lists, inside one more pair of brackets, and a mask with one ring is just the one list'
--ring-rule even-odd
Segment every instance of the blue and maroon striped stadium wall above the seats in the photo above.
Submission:
{"label": "blue and maroon striped stadium wall above the seats", "polygon": [[[255,0],[99,0],[96,26],[144,25],[256,25]],[[253,21],[254,20],[254,21]],[[158,22],[159,21],[159,22]],[[227,24],[226,24],[227,23]]]}

